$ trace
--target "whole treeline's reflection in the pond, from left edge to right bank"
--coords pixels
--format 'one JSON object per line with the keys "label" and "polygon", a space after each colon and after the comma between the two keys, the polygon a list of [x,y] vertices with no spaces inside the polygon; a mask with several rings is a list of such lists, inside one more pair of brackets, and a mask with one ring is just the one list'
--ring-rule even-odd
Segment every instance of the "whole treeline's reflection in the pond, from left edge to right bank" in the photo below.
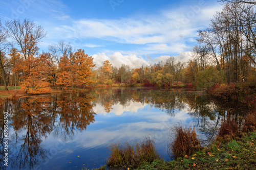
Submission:
{"label": "whole treeline's reflection in the pond, from left edge to right bank", "polygon": [[[185,110],[192,117],[191,121],[209,140],[214,135],[221,120],[237,119],[242,111],[237,111],[242,104],[233,106],[208,99],[206,95],[184,90],[165,89],[125,89],[109,88],[95,89],[90,92],[71,94],[54,94],[1,102],[0,119],[8,112],[12,134],[9,136],[12,158],[12,168],[35,168],[50,156],[42,142],[44,138],[53,135],[66,142],[80,131],[83,131],[95,121],[93,110],[96,104],[104,107],[106,113],[113,106],[123,107],[132,103],[148,104],[163,110],[170,116],[176,116],[180,110]],[[242,121],[240,121],[242,124]],[[4,124],[0,122],[1,150],[4,154]],[[0,168],[3,169],[3,158],[0,158]]]}

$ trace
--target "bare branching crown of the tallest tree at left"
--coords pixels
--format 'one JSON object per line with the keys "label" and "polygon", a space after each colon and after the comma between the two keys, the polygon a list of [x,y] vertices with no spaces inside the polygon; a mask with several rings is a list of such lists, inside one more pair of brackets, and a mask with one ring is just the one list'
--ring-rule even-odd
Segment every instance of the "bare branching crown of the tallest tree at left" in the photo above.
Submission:
{"label": "bare branching crown of the tallest tree at left", "polygon": [[46,32],[41,26],[37,26],[33,21],[19,19],[6,21],[7,34],[14,40],[14,43],[20,47],[25,60],[37,53],[37,44],[46,36]]}

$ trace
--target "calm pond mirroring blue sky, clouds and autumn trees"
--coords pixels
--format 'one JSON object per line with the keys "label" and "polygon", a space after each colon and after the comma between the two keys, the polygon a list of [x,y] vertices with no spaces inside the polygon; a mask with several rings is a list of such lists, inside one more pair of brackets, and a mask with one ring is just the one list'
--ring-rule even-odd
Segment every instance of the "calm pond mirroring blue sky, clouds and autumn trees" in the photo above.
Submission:
{"label": "calm pond mirroring blue sky, clouds and autumn trees", "polygon": [[0,109],[0,154],[8,153],[8,166],[0,158],[1,169],[96,168],[106,163],[111,142],[144,137],[154,139],[162,157],[172,160],[167,145],[174,126],[195,127],[207,144],[223,119],[240,121],[245,112],[243,104],[218,102],[202,92],[152,88],[29,96],[5,101]]}

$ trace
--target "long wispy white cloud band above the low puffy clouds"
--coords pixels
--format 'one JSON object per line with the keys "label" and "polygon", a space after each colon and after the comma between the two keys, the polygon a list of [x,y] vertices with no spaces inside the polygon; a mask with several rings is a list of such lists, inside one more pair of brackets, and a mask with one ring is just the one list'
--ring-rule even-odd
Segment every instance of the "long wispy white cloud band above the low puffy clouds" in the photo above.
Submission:
{"label": "long wispy white cloud band above the low puffy clouds", "polygon": [[[139,51],[137,55],[182,53],[190,48],[186,41],[195,42],[197,30],[208,27],[215,11],[222,8],[219,4],[205,4],[200,8],[195,6],[168,9],[158,15],[141,14],[120,19],[74,20],[71,22],[72,25],[57,26],[54,35],[65,35],[70,39],[96,38],[113,43],[143,45],[136,49]],[[197,6],[200,6],[199,3]],[[93,42],[93,45],[86,46],[101,45]]]}

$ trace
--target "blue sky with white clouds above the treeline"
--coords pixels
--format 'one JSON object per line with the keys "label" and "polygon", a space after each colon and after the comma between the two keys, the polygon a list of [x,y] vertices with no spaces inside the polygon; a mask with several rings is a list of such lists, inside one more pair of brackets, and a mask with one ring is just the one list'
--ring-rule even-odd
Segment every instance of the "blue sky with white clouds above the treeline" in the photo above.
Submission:
{"label": "blue sky with white clouds above the treeline", "polygon": [[214,0],[0,0],[2,23],[30,19],[47,36],[38,45],[70,42],[93,56],[137,68],[175,56],[186,62],[197,45],[197,30],[209,27],[222,5]]}

